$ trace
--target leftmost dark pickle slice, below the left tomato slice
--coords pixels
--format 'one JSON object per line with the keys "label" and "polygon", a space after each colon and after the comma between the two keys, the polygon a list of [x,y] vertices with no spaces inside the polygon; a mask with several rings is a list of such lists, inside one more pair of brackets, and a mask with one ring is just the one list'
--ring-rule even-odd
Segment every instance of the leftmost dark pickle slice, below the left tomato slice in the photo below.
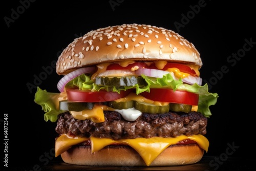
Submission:
{"label": "leftmost dark pickle slice, below the left tomato slice", "polygon": [[93,109],[94,103],[88,103],[88,102],[74,102],[69,100],[62,100],[59,101],[59,109],[65,110],[65,111],[75,111],[79,112],[82,110],[88,110]]}

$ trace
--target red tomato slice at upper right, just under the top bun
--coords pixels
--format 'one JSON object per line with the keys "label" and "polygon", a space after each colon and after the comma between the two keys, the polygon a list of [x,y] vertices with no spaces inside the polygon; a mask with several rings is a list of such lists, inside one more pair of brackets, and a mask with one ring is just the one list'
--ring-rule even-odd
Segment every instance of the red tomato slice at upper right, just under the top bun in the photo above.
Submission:
{"label": "red tomato slice at upper right, just under the top bun", "polygon": [[[151,65],[150,66],[151,69],[158,69],[155,65]],[[181,63],[172,63],[172,62],[168,62],[164,68],[162,70],[167,70],[168,68],[178,68],[181,72],[184,72],[184,73],[188,73],[192,76],[196,76],[197,73],[191,69],[190,67],[186,66],[186,65],[183,65]]]}

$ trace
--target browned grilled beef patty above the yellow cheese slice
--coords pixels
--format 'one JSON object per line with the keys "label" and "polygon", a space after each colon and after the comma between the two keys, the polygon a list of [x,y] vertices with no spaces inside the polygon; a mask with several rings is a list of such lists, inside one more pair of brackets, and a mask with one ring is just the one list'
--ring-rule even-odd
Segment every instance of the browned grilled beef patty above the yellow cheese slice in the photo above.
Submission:
{"label": "browned grilled beef patty above the yellow cheese slice", "polygon": [[56,132],[78,137],[118,139],[177,137],[180,135],[206,134],[207,118],[199,112],[142,115],[127,121],[118,112],[104,111],[105,121],[77,120],[69,113],[58,116]]}

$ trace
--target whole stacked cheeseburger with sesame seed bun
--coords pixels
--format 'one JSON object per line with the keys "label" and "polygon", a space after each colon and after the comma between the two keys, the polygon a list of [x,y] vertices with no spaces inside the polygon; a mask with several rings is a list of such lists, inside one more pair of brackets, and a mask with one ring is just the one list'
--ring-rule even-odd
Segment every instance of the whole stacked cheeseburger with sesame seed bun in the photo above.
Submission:
{"label": "whole stacked cheeseburger with sesame seed bun", "polygon": [[194,45],[161,27],[124,24],[74,39],[56,63],[59,93],[38,87],[34,100],[56,122],[56,157],[91,166],[200,161],[218,98],[201,67]]}

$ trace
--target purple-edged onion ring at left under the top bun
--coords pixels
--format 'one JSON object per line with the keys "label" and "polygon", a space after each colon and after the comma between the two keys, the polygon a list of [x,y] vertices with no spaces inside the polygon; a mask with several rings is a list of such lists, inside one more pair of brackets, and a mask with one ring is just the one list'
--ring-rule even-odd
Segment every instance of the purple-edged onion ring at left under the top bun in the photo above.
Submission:
{"label": "purple-edged onion ring at left under the top bun", "polygon": [[96,67],[79,68],[79,69],[72,71],[71,73],[68,73],[67,75],[63,76],[57,83],[57,88],[58,88],[59,92],[63,92],[66,84],[73,78],[75,78],[81,74],[92,73],[93,71],[95,71],[95,69],[96,69]]}

